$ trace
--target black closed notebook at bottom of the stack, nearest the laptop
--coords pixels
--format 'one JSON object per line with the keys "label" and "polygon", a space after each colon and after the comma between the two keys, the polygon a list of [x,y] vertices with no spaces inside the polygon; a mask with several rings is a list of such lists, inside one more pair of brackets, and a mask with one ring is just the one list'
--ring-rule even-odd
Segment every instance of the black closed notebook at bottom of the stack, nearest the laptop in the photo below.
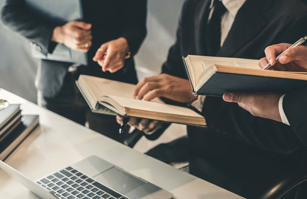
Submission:
{"label": "black closed notebook at bottom of the stack, nearest the laptop", "polygon": [[4,140],[0,142],[0,160],[4,161],[38,125],[38,115],[24,115],[22,122],[17,125]]}

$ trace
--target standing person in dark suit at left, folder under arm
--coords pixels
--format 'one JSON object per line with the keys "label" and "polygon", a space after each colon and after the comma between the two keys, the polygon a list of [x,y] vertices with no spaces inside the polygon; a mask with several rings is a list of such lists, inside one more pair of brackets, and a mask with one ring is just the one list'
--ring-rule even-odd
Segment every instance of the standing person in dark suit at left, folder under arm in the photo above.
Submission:
{"label": "standing person in dark suit at left, folder under arm", "polygon": [[137,83],[133,55],[146,35],[147,2],[87,0],[82,6],[84,22],[50,22],[31,12],[24,0],[7,0],[1,17],[6,27],[45,55],[52,53],[57,43],[88,52],[88,65],[77,68],[74,63],[40,60],[38,104],[82,125],[88,121],[90,128],[122,142],[125,136],[118,135],[114,116],[92,113],[74,81],[84,74]]}

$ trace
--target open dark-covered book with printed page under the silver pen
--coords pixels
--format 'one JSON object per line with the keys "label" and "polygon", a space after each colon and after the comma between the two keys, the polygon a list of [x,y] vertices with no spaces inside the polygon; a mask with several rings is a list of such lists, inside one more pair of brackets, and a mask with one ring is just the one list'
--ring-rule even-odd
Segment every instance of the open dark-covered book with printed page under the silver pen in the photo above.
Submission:
{"label": "open dark-covered book with printed page under the silver pen", "polygon": [[183,57],[194,95],[227,92],[287,93],[307,86],[306,73],[262,70],[258,60],[188,55]]}

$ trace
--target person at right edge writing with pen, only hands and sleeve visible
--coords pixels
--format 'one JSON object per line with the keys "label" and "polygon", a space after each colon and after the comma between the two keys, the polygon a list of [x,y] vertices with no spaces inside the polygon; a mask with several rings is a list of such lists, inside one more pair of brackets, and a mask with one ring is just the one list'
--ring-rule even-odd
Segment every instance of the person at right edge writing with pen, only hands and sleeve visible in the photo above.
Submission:
{"label": "person at right edge writing with pen, only hands and sleeve visible", "polygon": [[[259,66],[264,68],[269,62],[278,71],[307,72],[307,46],[288,49],[276,63],[278,54],[285,51],[291,44],[281,43],[265,49],[266,57],[260,59]],[[293,129],[299,140],[307,146],[307,124],[305,104],[307,88],[294,90],[287,94],[275,93],[227,93],[223,99],[238,103],[254,116],[283,122]],[[256,103],[257,102],[257,103]]]}

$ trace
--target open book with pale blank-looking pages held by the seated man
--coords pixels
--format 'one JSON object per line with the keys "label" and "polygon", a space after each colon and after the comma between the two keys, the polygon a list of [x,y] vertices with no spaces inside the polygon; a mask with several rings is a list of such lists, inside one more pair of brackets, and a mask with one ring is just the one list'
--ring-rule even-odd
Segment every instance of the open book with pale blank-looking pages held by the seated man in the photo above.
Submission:
{"label": "open book with pale blank-looking pages held by the seated man", "polygon": [[86,75],[81,75],[76,84],[93,112],[117,113],[122,116],[187,125],[206,125],[205,118],[189,108],[165,104],[158,98],[152,101],[134,99],[133,84]]}

